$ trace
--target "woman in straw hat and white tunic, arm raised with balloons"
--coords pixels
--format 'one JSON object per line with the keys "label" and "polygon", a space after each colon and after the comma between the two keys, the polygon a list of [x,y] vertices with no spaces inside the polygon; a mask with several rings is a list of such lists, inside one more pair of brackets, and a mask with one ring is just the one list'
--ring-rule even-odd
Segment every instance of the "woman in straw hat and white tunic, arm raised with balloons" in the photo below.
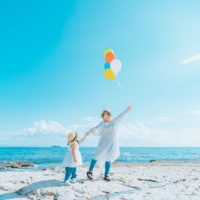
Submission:
{"label": "woman in straw hat and white tunic, arm raised with balloons", "polygon": [[110,165],[120,156],[117,134],[118,126],[124,119],[126,113],[131,109],[132,107],[129,106],[122,114],[114,119],[111,119],[112,114],[110,110],[104,109],[100,115],[103,118],[103,122],[86,133],[87,135],[92,134],[100,136],[97,151],[91,161],[89,171],[87,172],[87,177],[89,179],[93,179],[92,171],[95,164],[97,163],[98,166],[102,167],[102,164],[105,163],[104,179],[110,181],[108,176]]}

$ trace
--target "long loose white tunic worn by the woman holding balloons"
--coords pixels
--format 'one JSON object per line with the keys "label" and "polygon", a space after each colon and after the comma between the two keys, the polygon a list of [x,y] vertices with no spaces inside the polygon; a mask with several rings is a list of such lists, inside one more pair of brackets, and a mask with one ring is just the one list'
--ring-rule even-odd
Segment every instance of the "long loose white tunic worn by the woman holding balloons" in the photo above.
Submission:
{"label": "long loose white tunic worn by the woman holding balloons", "polygon": [[126,111],[112,119],[110,123],[103,121],[91,129],[94,131],[92,135],[100,136],[97,151],[93,157],[94,160],[97,160],[99,167],[102,167],[106,161],[114,162],[120,156],[118,126],[125,114]]}

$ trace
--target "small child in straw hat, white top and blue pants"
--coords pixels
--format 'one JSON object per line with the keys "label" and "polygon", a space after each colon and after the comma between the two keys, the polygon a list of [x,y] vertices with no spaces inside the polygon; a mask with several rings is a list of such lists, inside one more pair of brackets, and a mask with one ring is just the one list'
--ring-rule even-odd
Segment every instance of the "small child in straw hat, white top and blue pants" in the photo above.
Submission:
{"label": "small child in straw hat, white top and blue pants", "polygon": [[82,165],[82,157],[79,151],[79,145],[84,142],[86,137],[87,135],[85,135],[81,141],[78,141],[78,133],[72,132],[68,134],[69,150],[63,160],[63,166],[65,166],[64,182],[66,185],[76,182],[76,167]]}

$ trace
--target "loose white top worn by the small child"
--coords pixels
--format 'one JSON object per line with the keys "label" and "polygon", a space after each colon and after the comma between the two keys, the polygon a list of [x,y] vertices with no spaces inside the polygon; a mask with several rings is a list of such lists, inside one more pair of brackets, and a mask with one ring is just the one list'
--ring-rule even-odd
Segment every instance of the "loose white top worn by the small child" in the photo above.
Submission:
{"label": "loose white top worn by the small child", "polygon": [[[75,155],[76,155],[76,159],[77,159],[77,163],[74,162],[74,157],[72,155],[72,144],[76,145],[75,148]],[[74,141],[74,142],[70,142],[69,146],[68,146],[68,152],[65,154],[65,157],[63,159],[63,166],[65,167],[77,167],[79,165],[82,165],[82,157],[81,157],[81,153],[79,151],[79,144],[78,142]]]}

